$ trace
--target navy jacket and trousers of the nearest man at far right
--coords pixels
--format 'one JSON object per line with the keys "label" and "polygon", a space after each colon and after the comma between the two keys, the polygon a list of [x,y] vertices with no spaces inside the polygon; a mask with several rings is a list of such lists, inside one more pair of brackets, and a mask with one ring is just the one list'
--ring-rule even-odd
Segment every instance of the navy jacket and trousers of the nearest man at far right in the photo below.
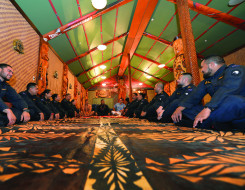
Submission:
{"label": "navy jacket and trousers of the nearest man at far right", "polygon": [[[216,73],[203,80],[194,92],[180,106],[192,108],[209,94],[212,99],[205,107],[211,109],[209,118],[200,127],[217,126],[219,123],[245,120],[245,67],[240,65],[222,66]],[[192,110],[192,109],[190,109]],[[191,120],[201,110],[183,110]]]}

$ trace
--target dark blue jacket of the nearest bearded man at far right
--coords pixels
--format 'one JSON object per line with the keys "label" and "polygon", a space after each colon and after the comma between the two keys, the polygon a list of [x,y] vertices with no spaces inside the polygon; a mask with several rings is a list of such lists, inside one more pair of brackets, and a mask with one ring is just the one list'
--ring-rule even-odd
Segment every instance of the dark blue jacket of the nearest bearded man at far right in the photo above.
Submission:
{"label": "dark blue jacket of the nearest bearded man at far right", "polygon": [[241,95],[245,97],[245,66],[222,66],[216,73],[203,80],[193,93],[180,104],[185,108],[197,105],[202,98],[209,94],[212,99],[205,106],[215,110],[229,95]]}

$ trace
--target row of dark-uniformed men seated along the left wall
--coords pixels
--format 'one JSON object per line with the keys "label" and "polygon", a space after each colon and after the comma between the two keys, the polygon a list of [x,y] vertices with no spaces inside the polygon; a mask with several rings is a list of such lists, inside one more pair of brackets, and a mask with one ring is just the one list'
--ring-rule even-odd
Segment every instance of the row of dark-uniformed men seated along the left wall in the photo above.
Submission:
{"label": "row of dark-uniformed men seated along the left wall", "polygon": [[58,94],[46,89],[38,96],[36,83],[28,83],[19,94],[6,82],[13,76],[13,68],[0,64],[0,126],[31,121],[44,121],[77,117],[82,114],[76,108],[76,100],[66,94],[60,102]]}

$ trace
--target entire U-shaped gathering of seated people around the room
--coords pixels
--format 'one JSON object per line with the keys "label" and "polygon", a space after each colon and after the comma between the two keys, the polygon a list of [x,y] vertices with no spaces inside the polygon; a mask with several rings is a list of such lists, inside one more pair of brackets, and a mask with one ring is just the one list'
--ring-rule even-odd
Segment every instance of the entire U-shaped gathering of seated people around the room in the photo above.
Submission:
{"label": "entire U-shaped gathering of seated people around the room", "polygon": [[[196,87],[192,84],[192,75],[182,73],[177,80],[178,87],[169,97],[164,92],[163,83],[155,85],[156,96],[148,102],[145,94],[134,93],[132,102],[125,105],[123,99],[115,104],[113,111],[102,99],[96,111],[86,100],[82,108],[83,116],[123,115],[172,123],[180,126],[219,128],[245,126],[245,66],[231,64],[227,66],[220,56],[209,56],[201,62],[204,80]],[[13,69],[0,64],[0,126],[20,121],[59,119],[75,117],[79,110],[70,102],[67,94],[60,103],[58,94],[51,95],[45,90],[37,97],[37,85],[29,83],[27,90],[19,95],[6,83],[13,75]],[[211,100],[203,105],[206,94]],[[52,96],[52,101],[50,100]],[[7,99],[13,105],[7,106]]]}

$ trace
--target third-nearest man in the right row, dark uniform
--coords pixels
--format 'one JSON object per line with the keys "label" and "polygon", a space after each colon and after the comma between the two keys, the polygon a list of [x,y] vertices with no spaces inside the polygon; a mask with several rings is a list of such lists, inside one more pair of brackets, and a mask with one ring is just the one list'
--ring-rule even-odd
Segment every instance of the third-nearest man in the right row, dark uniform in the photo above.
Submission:
{"label": "third-nearest man in the right row, dark uniform", "polygon": [[141,118],[146,118],[148,120],[154,121],[157,120],[157,112],[156,110],[161,106],[165,105],[169,96],[166,92],[164,92],[164,85],[163,83],[159,82],[155,85],[154,88],[157,95],[150,101],[148,105],[146,105],[142,112]]}

